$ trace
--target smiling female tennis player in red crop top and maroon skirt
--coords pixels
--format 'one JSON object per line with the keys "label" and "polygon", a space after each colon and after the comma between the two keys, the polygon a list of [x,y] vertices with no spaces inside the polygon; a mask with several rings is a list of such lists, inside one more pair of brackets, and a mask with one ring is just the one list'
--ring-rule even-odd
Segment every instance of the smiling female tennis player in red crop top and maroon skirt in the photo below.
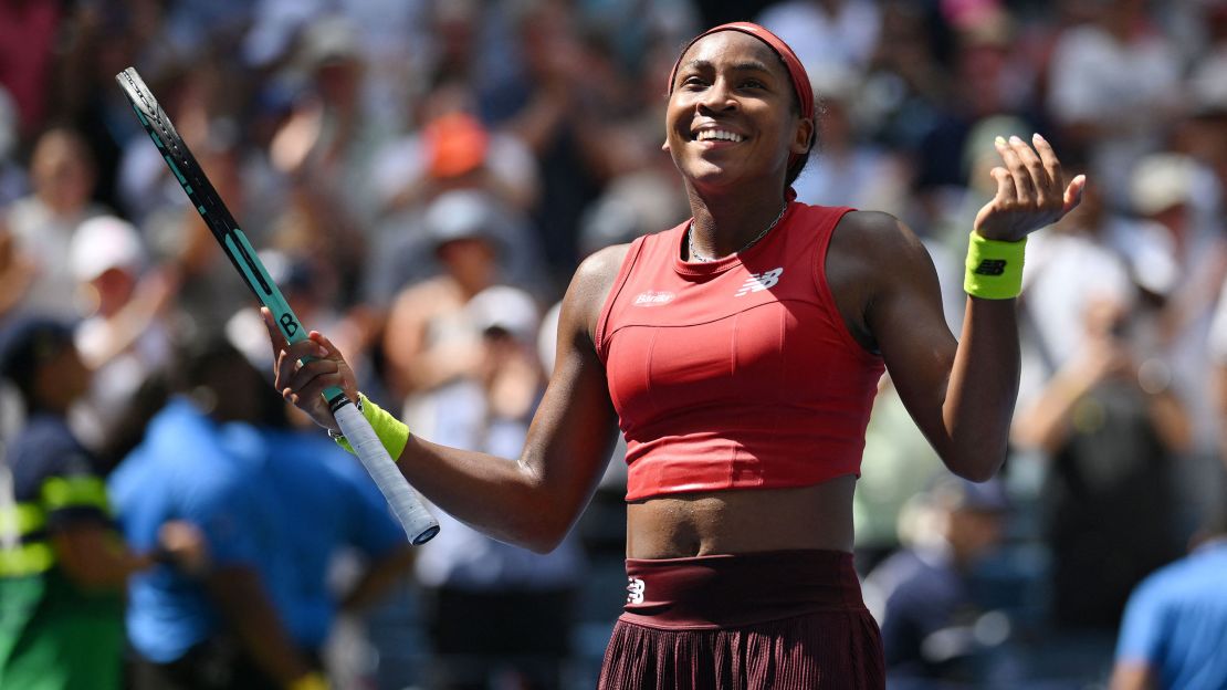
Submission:
{"label": "smiling female tennis player in red crop top and maroon skirt", "polygon": [[[621,428],[628,597],[602,688],[885,685],[852,559],[883,368],[950,470],[983,481],[1001,465],[1026,237],[1076,206],[1085,178],[1065,185],[1039,136],[996,140],[956,341],[910,230],[793,200],[815,129],[810,81],[778,37],[750,23],[701,34],[670,75],[665,119],[693,217],[580,265],[523,454],[433,444],[364,406],[422,494],[541,551],[584,510]],[[358,395],[341,354],[320,334],[270,334],[276,386],[335,432],[320,392]]]}

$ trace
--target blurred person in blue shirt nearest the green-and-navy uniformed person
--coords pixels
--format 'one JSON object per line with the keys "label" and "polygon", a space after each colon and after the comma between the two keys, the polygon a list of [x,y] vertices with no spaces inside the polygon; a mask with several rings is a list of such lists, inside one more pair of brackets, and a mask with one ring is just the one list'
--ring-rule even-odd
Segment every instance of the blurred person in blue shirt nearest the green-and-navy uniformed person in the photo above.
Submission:
{"label": "blurred person in blue shirt nearest the green-and-navy uniformed person", "polygon": [[275,492],[250,459],[263,444],[256,438],[243,449],[225,433],[269,414],[267,386],[244,363],[220,340],[188,354],[172,384],[178,394],[109,480],[130,543],[150,543],[174,517],[198,525],[212,559],[204,578],[158,567],[131,580],[126,622],[137,690],[326,688],[270,593],[269,554],[282,527]]}

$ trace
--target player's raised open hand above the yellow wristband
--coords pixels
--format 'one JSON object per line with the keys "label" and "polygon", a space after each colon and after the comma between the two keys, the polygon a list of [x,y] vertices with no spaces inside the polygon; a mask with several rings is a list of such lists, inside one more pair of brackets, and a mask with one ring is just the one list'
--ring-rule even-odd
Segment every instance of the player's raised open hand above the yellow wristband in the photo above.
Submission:
{"label": "player's raised open hand above the yellow wristband", "polygon": [[1082,200],[1086,176],[1065,185],[1061,162],[1052,145],[1036,134],[1034,149],[1017,136],[996,138],[996,150],[1005,167],[993,168],[996,196],[975,215],[975,232],[988,239],[1016,242],[1049,226],[1072,211]]}

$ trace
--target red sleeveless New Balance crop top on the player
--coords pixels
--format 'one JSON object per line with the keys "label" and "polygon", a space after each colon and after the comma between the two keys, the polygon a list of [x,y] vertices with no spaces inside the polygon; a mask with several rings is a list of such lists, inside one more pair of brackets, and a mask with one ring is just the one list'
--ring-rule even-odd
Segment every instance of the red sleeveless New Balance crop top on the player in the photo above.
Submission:
{"label": "red sleeveless New Balance crop top on the player", "polygon": [[627,441],[627,500],[860,474],[882,360],[823,268],[849,209],[791,203],[741,254],[681,260],[686,225],[631,244],[596,327]]}

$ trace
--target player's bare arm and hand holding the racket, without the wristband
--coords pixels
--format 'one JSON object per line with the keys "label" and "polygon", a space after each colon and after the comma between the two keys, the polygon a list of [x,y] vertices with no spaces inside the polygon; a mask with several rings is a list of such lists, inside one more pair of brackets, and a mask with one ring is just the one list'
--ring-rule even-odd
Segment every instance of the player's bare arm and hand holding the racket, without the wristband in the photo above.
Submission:
{"label": "player's bare arm and hand holding the racket, without the wristband", "polygon": [[[553,374],[518,459],[461,451],[411,437],[398,464],[427,498],[458,519],[503,541],[548,551],[566,537],[600,480],[614,447],[617,415],[594,331],[626,247],[604,249],[580,265],[563,300]],[[265,317],[266,325],[269,317]],[[320,392],[342,386],[355,394],[353,376],[328,339],[313,333],[292,346],[279,341],[277,389],[320,424]],[[304,356],[321,359],[294,370]]]}

